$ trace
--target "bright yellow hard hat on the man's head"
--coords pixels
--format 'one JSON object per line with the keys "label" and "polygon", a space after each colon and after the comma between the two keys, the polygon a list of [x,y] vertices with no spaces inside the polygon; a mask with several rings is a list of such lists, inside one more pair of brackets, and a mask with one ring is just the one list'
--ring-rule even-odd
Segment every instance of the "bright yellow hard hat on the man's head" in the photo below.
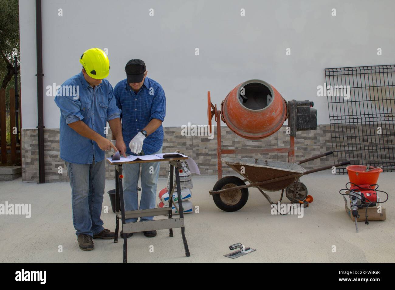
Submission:
{"label": "bright yellow hard hat on the man's head", "polygon": [[88,76],[94,79],[104,79],[110,72],[110,62],[107,54],[98,48],[85,51],[79,60]]}

